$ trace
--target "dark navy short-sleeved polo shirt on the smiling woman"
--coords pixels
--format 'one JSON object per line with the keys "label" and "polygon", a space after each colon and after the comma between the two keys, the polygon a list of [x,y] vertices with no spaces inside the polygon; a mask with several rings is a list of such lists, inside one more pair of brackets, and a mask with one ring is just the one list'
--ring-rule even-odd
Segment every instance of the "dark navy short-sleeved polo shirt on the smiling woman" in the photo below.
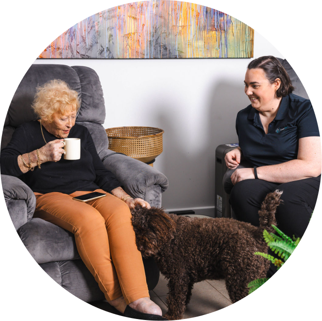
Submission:
{"label": "dark navy short-sleeved polo shirt on the smiling woman", "polygon": [[267,134],[252,105],[238,112],[236,131],[243,156],[256,166],[297,159],[299,139],[320,136],[311,101],[294,94],[282,98]]}

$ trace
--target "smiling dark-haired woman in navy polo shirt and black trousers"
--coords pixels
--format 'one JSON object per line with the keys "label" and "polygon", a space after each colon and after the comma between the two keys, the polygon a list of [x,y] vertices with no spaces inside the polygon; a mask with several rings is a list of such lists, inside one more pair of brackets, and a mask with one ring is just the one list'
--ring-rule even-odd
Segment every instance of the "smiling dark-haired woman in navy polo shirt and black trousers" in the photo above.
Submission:
{"label": "smiling dark-haired woman in navy polo shirt and black trousers", "polygon": [[251,104],[237,114],[239,148],[225,156],[231,175],[225,191],[237,219],[257,226],[266,194],[283,191],[278,228],[291,238],[302,237],[321,184],[321,139],[313,106],[292,94],[286,70],[272,56],[252,61],[244,82]]}

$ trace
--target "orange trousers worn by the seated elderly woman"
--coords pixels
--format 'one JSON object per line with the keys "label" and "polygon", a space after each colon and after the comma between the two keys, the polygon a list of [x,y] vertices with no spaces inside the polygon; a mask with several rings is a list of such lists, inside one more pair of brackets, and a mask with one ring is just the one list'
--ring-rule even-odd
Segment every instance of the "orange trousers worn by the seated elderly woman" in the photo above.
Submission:
{"label": "orange trousers worn by the seated elderly woman", "polygon": [[124,297],[126,304],[149,297],[141,253],[135,244],[131,212],[125,202],[107,196],[89,202],[72,198],[90,192],[35,193],[34,217],[75,236],[80,257],[98,282],[107,301]]}

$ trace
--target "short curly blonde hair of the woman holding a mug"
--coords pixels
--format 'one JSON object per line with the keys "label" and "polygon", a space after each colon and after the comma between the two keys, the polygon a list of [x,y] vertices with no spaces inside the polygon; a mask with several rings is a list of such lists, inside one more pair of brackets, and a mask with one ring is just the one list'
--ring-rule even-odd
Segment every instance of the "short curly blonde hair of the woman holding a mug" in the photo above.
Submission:
{"label": "short curly blonde hair of the woman holding a mug", "polygon": [[66,111],[77,110],[80,107],[78,93],[60,79],[54,79],[37,87],[35,99],[31,105],[40,119],[53,122],[53,115],[63,115]]}

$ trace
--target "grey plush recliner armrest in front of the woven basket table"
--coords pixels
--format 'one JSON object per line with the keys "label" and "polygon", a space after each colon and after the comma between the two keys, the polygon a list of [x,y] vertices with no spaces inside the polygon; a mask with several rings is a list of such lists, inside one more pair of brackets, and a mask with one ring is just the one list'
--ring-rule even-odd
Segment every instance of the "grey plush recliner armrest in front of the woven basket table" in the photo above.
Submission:
{"label": "grey plush recliner armrest in front of the woven basket table", "polygon": [[103,164],[116,176],[125,192],[134,197],[145,199],[146,193],[154,186],[159,187],[161,193],[168,188],[164,174],[129,156],[109,150]]}

